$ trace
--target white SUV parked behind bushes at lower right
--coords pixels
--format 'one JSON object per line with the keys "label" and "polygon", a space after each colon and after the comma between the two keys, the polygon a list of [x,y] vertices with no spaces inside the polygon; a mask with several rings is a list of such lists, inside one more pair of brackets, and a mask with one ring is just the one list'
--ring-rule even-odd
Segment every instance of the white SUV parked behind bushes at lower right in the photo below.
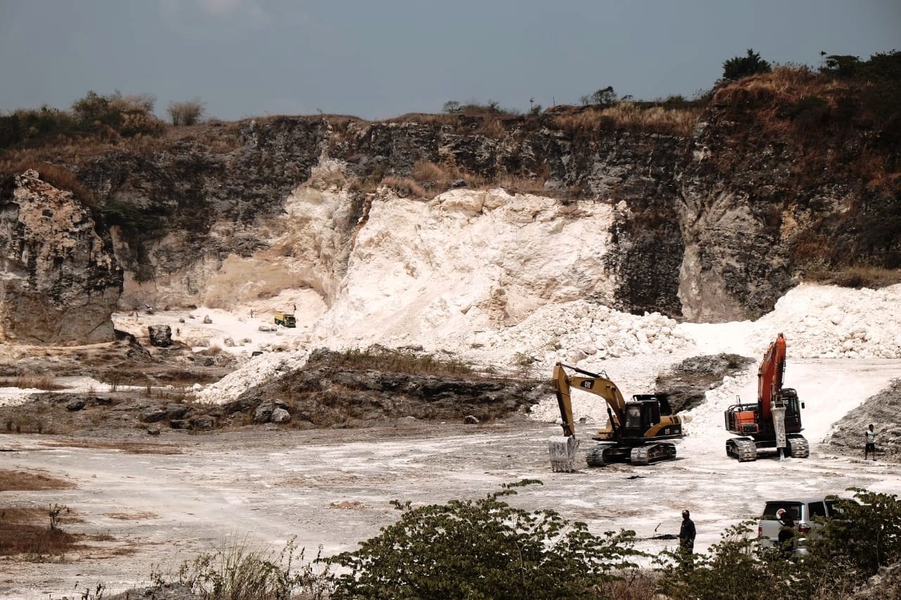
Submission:
{"label": "white SUV parked behind bushes at lower right", "polygon": [[[794,538],[794,555],[806,556],[808,554],[806,542],[815,536],[815,530],[823,526],[816,523],[814,517],[833,518],[841,514],[839,503],[842,499],[836,495],[815,497],[788,497],[779,500],[769,500],[763,509],[763,516],[757,523],[757,537],[763,548],[773,547],[778,544],[779,523],[776,514],[784,510],[795,522],[797,533]],[[854,502],[851,500],[851,502]]]}

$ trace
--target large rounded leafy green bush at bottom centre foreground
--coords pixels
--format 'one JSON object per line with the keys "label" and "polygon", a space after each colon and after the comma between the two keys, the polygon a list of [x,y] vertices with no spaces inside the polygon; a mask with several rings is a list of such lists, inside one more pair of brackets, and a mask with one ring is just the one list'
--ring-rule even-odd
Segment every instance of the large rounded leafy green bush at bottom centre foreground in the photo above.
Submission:
{"label": "large rounded leafy green bush at bottom centre foreground", "polygon": [[398,523],[327,559],[348,569],[337,598],[572,598],[595,595],[629,561],[634,532],[587,531],[559,514],[516,509],[501,500],[523,480],[477,501],[396,507]]}

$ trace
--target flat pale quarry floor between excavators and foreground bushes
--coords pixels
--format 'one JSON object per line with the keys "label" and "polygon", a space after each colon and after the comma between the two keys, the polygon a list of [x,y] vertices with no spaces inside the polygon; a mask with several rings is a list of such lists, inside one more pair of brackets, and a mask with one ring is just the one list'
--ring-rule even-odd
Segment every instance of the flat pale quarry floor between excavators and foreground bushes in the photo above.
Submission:
{"label": "flat pale quarry floor between excavators and foreground bushes", "polygon": [[81,597],[97,584],[112,594],[175,578],[184,561],[231,544],[271,546],[296,539],[313,558],[353,550],[394,523],[391,500],[414,505],[478,498],[507,482],[537,478],[510,498],[554,509],[592,532],[631,529],[641,550],[678,532],[689,508],[703,551],[730,525],[760,513],[777,495],[842,493],[849,486],[901,493],[901,465],[821,453],[809,459],[738,464],[721,448],[687,438],[675,461],[648,467],[584,467],[596,425],[580,426],[576,473],[553,473],[546,440],[559,426],[514,418],[462,425],[405,421],[367,430],[262,427],[157,438],[111,431],[102,443],[48,435],[0,436],[3,467],[68,479],[76,487],[0,492],[6,505],[67,505],[69,532],[103,536],[62,560],[0,559],[0,597]]}

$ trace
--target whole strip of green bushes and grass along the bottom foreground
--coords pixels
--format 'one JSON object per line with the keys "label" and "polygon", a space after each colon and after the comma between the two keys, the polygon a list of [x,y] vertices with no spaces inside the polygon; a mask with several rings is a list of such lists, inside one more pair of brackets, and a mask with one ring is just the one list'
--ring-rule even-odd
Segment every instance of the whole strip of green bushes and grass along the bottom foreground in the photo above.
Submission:
{"label": "whole strip of green bushes and grass along the bottom foreground", "polygon": [[[185,563],[179,583],[203,598],[605,598],[622,600],[757,600],[901,597],[901,502],[856,489],[840,503],[803,558],[761,548],[756,522],[727,529],[721,541],[686,559],[661,552],[655,568],[633,548],[634,532],[588,532],[550,510],[513,508],[502,486],[480,500],[412,508],[393,504],[400,520],[342,552],[303,563],[289,543],[278,557],[245,543]],[[895,568],[886,569],[894,565]],[[332,570],[332,567],[337,567]],[[884,575],[878,583],[869,577]],[[889,575],[885,575],[888,573]],[[162,582],[160,581],[160,585]]]}

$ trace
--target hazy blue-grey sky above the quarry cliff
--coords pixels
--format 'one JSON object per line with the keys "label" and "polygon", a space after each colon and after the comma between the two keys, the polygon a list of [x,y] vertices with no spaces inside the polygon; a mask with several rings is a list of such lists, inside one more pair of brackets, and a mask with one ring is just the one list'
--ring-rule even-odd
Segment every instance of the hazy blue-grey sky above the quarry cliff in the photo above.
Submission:
{"label": "hazy blue-grey sky above the quarry cliff", "polygon": [[813,67],[901,50],[901,0],[0,0],[0,111],[88,90],[225,120],[526,111],[605,86],[691,97],[748,48]]}

